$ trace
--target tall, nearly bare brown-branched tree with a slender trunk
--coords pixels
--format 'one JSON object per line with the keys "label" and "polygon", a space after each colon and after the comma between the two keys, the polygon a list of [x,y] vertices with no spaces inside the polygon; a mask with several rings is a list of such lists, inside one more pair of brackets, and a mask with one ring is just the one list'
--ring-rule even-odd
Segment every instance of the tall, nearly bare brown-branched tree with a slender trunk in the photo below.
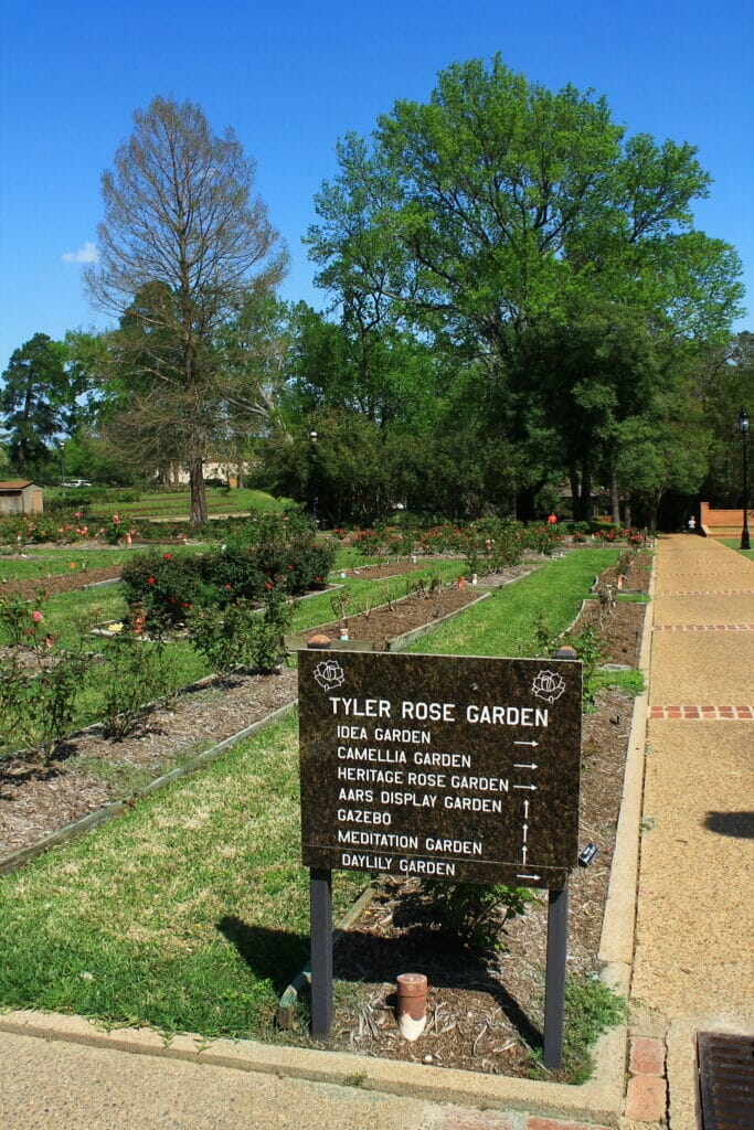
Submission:
{"label": "tall, nearly bare brown-branched tree with a slender trunk", "polygon": [[[253,163],[232,130],[211,133],[200,107],[156,97],[102,177],[95,304],[121,319],[113,347],[133,382],[127,403],[144,453],[188,466],[191,522],[207,519],[202,466],[227,435],[232,389],[218,338],[283,277]],[[148,426],[147,426],[148,425]]]}

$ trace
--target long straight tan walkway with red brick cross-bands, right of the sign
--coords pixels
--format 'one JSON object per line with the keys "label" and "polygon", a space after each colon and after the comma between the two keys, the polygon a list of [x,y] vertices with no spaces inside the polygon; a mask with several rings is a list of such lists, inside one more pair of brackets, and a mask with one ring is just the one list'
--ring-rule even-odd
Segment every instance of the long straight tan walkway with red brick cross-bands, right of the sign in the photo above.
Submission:
{"label": "long straight tan walkway with red brick cross-bands, right of the sign", "polygon": [[[695,1032],[754,1033],[754,565],[712,539],[659,540],[649,703],[632,1023],[695,1130]],[[656,1121],[664,1085],[632,1084]]]}

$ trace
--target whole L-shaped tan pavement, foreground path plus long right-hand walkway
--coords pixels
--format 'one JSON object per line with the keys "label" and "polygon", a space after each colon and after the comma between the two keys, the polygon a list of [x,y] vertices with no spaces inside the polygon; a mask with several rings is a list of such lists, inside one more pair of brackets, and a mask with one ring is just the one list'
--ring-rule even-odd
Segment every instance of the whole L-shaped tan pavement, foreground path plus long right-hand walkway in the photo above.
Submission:
{"label": "whole L-shaped tan pavement, foreground path plus long right-hand walkway", "polygon": [[[295,1077],[313,1062],[295,1049],[284,1050],[280,1067],[279,1052],[267,1064],[263,1052],[245,1060],[239,1052],[233,1066],[229,1044],[224,1057],[208,1062],[201,1053],[198,1063],[182,1037],[172,1052],[183,1058],[173,1059],[159,1040],[139,1033],[122,1046],[88,1046],[102,1037],[84,1022],[59,1019],[47,1040],[42,1018],[27,1032],[0,1031],[0,1130],[566,1130],[660,1123],[668,1110],[670,1130],[695,1130],[696,1028],[754,1032],[754,565],[701,537],[662,538],[652,611],[625,1074],[623,1043],[608,1040],[603,1049],[624,1111],[618,1097],[617,1114],[606,1112],[590,1085],[567,1088],[554,1110],[552,1097],[539,1103],[532,1090],[506,1104],[494,1092],[503,1080],[427,1074],[467,1076],[466,1094],[457,1085],[443,1101],[400,1085],[399,1064],[385,1066],[383,1089],[361,1088],[355,1077],[352,1086],[312,1081]],[[402,1094],[390,1094],[391,1086]]]}

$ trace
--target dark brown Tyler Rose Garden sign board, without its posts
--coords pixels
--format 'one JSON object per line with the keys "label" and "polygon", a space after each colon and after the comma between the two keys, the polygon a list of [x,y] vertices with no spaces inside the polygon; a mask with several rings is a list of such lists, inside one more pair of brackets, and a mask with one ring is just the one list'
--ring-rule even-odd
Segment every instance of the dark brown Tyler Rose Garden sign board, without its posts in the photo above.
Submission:
{"label": "dark brown Tyler Rose Garden sign board, without its posts", "polygon": [[564,886],[580,662],[309,651],[298,701],[306,867]]}

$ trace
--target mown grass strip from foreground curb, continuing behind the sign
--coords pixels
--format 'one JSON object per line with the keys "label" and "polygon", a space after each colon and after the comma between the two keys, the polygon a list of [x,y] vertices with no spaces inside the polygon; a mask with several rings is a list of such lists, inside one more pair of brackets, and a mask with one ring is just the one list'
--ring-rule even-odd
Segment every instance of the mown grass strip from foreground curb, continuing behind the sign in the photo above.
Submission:
{"label": "mown grass strip from foreground curb, continuing behind the sign", "polygon": [[[597,568],[616,557],[583,550],[548,563],[421,650],[527,654],[537,611],[553,631],[566,627]],[[327,601],[302,601],[300,623],[321,619]],[[278,997],[309,949],[296,724],[291,715],[1,879],[0,1007],[270,1036]],[[339,915],[365,877],[335,878]]]}

